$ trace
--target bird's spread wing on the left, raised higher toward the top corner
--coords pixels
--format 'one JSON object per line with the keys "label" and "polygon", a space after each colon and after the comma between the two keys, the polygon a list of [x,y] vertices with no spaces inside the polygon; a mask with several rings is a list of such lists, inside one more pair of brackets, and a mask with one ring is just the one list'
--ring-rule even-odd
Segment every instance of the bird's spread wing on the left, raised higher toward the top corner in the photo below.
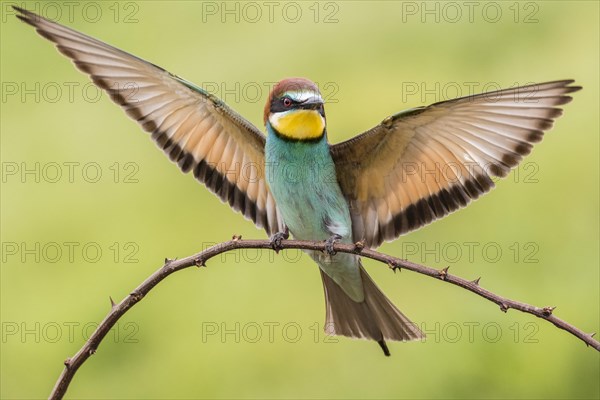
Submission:
{"label": "bird's spread wing on the left, raised higher toward the top corner", "polygon": [[283,222],[265,180],[265,137],[225,103],[164,69],[15,7],[135,119],[185,173],[272,234]]}

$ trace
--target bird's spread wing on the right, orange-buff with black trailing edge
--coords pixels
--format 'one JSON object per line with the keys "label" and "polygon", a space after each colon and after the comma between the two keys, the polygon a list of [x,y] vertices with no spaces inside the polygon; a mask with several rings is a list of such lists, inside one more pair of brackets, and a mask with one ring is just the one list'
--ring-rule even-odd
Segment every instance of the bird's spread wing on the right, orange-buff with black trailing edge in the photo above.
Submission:
{"label": "bird's spread wing on the right, orange-buff with black trailing edge", "polygon": [[563,80],[435,103],[331,147],[353,237],[379,246],[489,191],[581,87]]}

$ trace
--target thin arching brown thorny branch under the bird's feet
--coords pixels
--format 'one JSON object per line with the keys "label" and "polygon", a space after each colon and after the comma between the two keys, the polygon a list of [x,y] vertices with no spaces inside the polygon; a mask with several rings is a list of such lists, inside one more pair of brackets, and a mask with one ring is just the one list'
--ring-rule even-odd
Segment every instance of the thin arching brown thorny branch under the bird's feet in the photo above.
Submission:
{"label": "thin arching brown thorny branch under the bird's feet", "polygon": [[[277,242],[277,245],[274,246],[269,240],[242,240],[240,236],[234,236],[233,239],[228,242],[217,244],[193,256],[182,258],[180,260],[165,259],[165,263],[161,268],[148,277],[120,303],[115,304],[112,298],[110,299],[112,308],[108,315],[104,318],[100,325],[98,325],[96,331],[94,331],[92,336],[90,336],[88,341],[77,352],[77,354],[65,360],[65,368],[58,378],[54,389],[52,390],[50,399],[61,399],[65,395],[69,387],[69,383],[75,376],[75,373],[79,367],[81,367],[81,365],[96,352],[96,349],[102,342],[102,339],[104,339],[106,334],[110,331],[110,329],[112,329],[119,318],[121,318],[131,307],[142,300],[142,298],[144,298],[144,296],[148,294],[150,290],[152,290],[163,279],[172,273],[192,266],[204,267],[205,263],[212,257],[237,249],[270,249],[275,251],[279,251],[281,249],[303,249],[325,251],[326,246],[326,242],[310,242],[301,240],[282,240]],[[404,268],[419,274],[430,276],[432,278],[440,279],[456,286],[460,286],[463,289],[476,293],[479,296],[496,303],[504,312],[512,308],[528,314],[533,314],[538,318],[545,319],[546,321],[554,324],[556,327],[569,332],[573,336],[576,336],[586,345],[592,346],[594,349],[600,351],[600,342],[593,337],[595,333],[586,333],[581,329],[569,324],[568,322],[556,317],[553,314],[555,307],[536,307],[504,298],[479,286],[479,278],[475,279],[474,281],[459,278],[458,276],[450,275],[448,273],[448,268],[438,270],[435,268],[426,267],[424,265],[415,264],[407,260],[364,248],[361,242],[355,244],[334,243],[333,250],[342,253],[360,254],[362,257],[380,261],[384,264],[387,264],[394,272],[396,269]]]}

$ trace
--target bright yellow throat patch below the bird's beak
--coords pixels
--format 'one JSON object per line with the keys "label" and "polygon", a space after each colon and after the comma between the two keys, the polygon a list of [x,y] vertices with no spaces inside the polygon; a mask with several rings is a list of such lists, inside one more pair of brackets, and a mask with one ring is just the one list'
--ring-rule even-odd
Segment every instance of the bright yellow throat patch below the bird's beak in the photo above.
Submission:
{"label": "bright yellow throat patch below the bird's beak", "polygon": [[271,126],[293,140],[318,139],[325,132],[325,119],[317,110],[290,110],[269,116]]}

